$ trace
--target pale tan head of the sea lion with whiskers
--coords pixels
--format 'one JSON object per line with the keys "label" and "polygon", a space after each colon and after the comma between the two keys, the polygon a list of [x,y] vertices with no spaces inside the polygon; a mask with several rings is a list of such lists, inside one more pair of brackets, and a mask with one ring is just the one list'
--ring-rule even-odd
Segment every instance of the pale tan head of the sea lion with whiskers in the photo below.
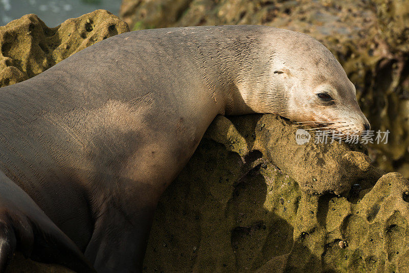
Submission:
{"label": "pale tan head of the sea lion with whiskers", "polygon": [[306,34],[281,30],[278,36],[270,77],[274,86],[283,90],[287,102],[278,114],[343,134],[369,130],[356,101],[355,86],[334,55]]}

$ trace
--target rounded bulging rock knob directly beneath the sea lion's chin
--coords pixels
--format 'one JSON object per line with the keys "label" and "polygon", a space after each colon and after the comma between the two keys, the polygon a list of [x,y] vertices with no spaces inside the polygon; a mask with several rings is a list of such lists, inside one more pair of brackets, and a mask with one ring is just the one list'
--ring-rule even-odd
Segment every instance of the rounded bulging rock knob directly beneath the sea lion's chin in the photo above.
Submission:
{"label": "rounded bulging rock knob directly beneath the sea lion's chin", "polygon": [[[269,126],[262,128],[263,124]],[[296,128],[283,125],[274,115],[264,115],[256,127],[255,148],[309,194],[347,194],[353,184],[368,185],[383,174],[371,166],[367,155],[351,151],[344,142],[316,144],[310,140],[298,145]]]}

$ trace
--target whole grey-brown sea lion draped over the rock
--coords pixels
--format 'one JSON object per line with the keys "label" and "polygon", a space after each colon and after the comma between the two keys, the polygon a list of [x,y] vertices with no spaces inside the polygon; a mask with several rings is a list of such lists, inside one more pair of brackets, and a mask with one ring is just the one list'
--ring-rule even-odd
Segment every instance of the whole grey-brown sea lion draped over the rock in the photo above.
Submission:
{"label": "whole grey-brown sea lion draped over the rock", "polygon": [[141,271],[158,198],[216,115],[369,128],[320,42],[263,26],[113,36],[0,89],[0,270]]}

